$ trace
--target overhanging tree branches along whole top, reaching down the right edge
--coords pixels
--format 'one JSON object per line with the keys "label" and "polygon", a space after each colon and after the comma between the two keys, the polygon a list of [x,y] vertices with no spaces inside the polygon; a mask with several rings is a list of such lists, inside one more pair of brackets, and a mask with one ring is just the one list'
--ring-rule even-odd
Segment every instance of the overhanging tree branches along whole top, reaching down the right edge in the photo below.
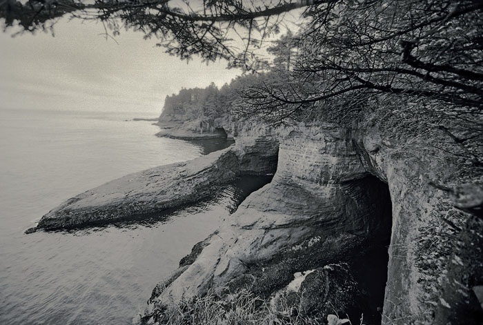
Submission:
{"label": "overhanging tree branches along whole top, reaching down the right edge", "polygon": [[[304,11],[296,35],[288,31],[274,41],[288,27],[284,15],[297,8]],[[244,90],[236,103],[239,112],[273,124],[314,115],[351,119],[398,103],[408,114],[431,117],[462,155],[483,135],[480,0],[0,3],[5,26],[29,31],[50,28],[65,14],[99,19],[114,35],[123,27],[140,30],[181,59],[225,58],[229,66],[266,70],[264,53],[275,55],[270,79]]]}

